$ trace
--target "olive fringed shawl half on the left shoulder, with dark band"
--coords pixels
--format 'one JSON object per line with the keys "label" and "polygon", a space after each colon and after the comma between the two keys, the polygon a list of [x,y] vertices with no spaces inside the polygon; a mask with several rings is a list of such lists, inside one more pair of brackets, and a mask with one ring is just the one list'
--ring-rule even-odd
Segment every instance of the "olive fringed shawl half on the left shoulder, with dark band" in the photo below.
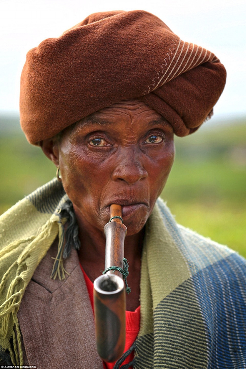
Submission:
{"label": "olive fringed shawl half on the left shoulder, with dark band", "polygon": [[23,365],[17,319],[21,299],[35,269],[57,236],[58,254],[51,277],[65,278],[63,225],[67,217],[62,217],[61,209],[66,201],[62,185],[54,179],[0,217],[0,346],[9,350],[14,365]]}

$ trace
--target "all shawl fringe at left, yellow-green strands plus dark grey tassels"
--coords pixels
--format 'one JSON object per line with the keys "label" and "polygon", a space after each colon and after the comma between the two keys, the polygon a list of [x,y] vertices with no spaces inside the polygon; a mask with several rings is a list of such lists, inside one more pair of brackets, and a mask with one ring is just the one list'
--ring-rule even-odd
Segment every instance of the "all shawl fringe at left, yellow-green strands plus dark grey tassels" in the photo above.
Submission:
{"label": "all shawl fringe at left, yellow-green strands plus dark grey tassels", "polygon": [[55,279],[58,276],[61,280],[65,279],[66,274],[69,275],[63,266],[63,258],[70,255],[72,245],[76,249],[80,247],[73,206],[65,196],[49,220],[37,230],[36,235],[17,239],[0,250],[0,259],[10,260],[0,283],[0,353],[6,352],[8,355],[8,350],[13,365],[23,365],[21,332],[17,318],[21,299],[35,269],[57,236],[58,253],[54,258],[51,277]]}

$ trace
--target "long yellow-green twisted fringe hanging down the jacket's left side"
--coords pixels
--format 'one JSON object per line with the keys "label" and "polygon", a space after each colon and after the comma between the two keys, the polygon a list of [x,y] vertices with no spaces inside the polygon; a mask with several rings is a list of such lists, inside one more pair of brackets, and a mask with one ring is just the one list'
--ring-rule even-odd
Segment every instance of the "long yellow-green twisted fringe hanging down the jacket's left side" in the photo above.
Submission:
{"label": "long yellow-green twisted fringe hanging down the jacket's left side", "polygon": [[[15,363],[14,365],[23,365],[21,333],[17,319],[21,299],[35,269],[46,255],[58,232],[60,236],[60,223],[59,215],[53,214],[38,231],[37,236],[14,241],[0,252],[0,255],[5,255],[6,252],[13,251],[19,247],[23,248],[23,244],[27,244],[22,249],[18,259],[4,273],[0,284],[1,295],[4,293],[4,287],[7,285],[8,278],[11,278],[13,270],[16,270],[15,277],[8,287],[6,300],[0,306],[0,345],[4,349],[9,350],[11,360],[13,364]],[[10,347],[10,338],[13,338],[13,351]]]}

